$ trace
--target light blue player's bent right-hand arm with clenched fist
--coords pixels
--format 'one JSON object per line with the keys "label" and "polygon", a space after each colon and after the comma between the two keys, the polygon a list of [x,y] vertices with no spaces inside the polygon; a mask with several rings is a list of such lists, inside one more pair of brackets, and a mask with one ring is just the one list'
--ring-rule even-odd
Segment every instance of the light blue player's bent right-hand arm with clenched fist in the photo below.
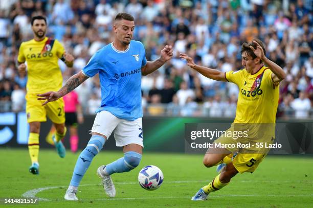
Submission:
{"label": "light blue player's bent right-hand arm with clenched fist", "polygon": [[161,57],[155,61],[147,61],[147,64],[141,68],[142,75],[148,75],[160,68],[166,61],[170,60],[173,56],[173,50],[171,45],[165,45],[161,51]]}

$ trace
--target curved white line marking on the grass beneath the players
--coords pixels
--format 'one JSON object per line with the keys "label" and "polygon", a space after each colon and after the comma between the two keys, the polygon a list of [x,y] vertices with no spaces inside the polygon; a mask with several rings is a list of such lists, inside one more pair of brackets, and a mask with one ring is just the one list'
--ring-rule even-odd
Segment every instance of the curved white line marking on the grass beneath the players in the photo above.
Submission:
{"label": "curved white line marking on the grass beneath the players", "polygon": [[[190,183],[190,182],[207,182],[207,180],[181,180],[181,181],[166,181],[166,183]],[[249,181],[249,180],[243,180],[239,182],[256,182],[256,181]],[[260,182],[260,181],[258,181]],[[271,182],[271,181],[261,181],[261,182]],[[295,181],[273,181],[273,182],[295,182]],[[115,182],[115,184],[137,184],[138,182]],[[95,184],[82,184],[80,187],[86,187],[86,186],[95,186]],[[37,188],[32,189],[27,192],[25,192],[22,197],[25,198],[37,198],[37,194],[42,191],[46,191],[49,189],[57,189],[57,188],[66,188],[68,186],[54,186],[54,187],[43,187],[43,188]],[[210,196],[210,198],[215,197],[251,197],[251,196],[269,196],[269,197],[277,197],[277,196],[313,196],[313,194],[282,194],[282,195],[276,195],[276,194],[268,194],[268,195],[217,195],[217,196]],[[84,199],[84,200],[144,200],[144,199],[173,199],[173,198],[190,198],[190,196],[185,197],[139,197],[139,198],[104,198],[104,199]],[[54,201],[55,199],[47,199],[47,198],[39,198],[40,201]],[[58,201],[65,201],[65,199],[58,199]]]}

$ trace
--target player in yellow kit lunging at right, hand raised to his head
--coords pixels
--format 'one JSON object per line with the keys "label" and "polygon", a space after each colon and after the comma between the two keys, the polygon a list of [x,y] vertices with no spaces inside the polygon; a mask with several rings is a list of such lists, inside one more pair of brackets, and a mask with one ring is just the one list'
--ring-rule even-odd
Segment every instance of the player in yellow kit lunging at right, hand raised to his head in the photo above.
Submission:
{"label": "player in yellow kit lunging at right, hand raised to his head", "polygon": [[[264,138],[269,137],[270,141],[274,140],[275,133],[272,127],[275,127],[279,83],[286,77],[282,68],[266,58],[264,54],[265,49],[262,41],[254,39],[251,43],[243,43],[241,46],[241,56],[244,69],[237,72],[230,71],[226,73],[196,65],[192,58],[186,54],[181,54],[180,56],[187,61],[188,66],[202,75],[210,79],[233,82],[238,85],[239,96],[236,118],[231,128],[227,131],[234,131],[236,130],[236,126],[239,126],[237,129],[240,129],[240,126],[245,125],[252,127],[252,129],[254,128],[254,130],[256,129],[254,132],[256,135],[250,135],[253,138],[249,136],[246,138],[248,142],[254,142],[253,139],[260,135]],[[264,124],[266,130],[263,129]],[[269,124],[270,128],[266,128],[266,124]],[[232,138],[222,135],[215,142],[230,144],[232,141],[234,141]],[[246,150],[255,149],[247,148]],[[201,188],[191,200],[206,200],[209,193],[227,186],[231,178],[238,172],[252,173],[267,154],[266,151],[259,154],[245,154],[238,151],[237,155],[232,155],[233,153],[236,154],[236,151],[238,151],[238,149],[214,146],[208,149],[203,160],[206,167],[220,166],[220,164],[227,165],[221,169],[220,174],[207,186]]]}

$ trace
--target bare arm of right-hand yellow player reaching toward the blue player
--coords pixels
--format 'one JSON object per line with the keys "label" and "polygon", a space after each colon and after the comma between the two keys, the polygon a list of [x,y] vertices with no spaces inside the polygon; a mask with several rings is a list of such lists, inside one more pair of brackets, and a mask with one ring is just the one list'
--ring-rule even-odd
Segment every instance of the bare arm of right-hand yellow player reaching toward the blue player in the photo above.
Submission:
{"label": "bare arm of right-hand yellow player reaching toward the blue player", "polygon": [[225,73],[220,72],[218,70],[214,70],[213,68],[207,68],[205,66],[199,66],[193,62],[193,59],[189,57],[187,54],[181,54],[181,59],[185,59],[187,61],[187,65],[193,68],[198,73],[202,74],[205,77],[210,79],[214,79],[217,81],[224,81],[226,82],[227,79],[225,78]]}

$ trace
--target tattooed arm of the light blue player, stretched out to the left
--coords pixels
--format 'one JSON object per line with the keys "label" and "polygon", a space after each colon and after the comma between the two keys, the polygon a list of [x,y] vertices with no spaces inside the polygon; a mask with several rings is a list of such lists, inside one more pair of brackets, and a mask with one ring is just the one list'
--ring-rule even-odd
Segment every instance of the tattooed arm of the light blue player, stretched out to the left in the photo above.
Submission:
{"label": "tattooed arm of the light blue player, stretched out to the left", "polygon": [[78,87],[86,79],[88,79],[88,77],[80,71],[79,73],[73,75],[68,81],[66,81],[65,85],[61,89],[59,89],[59,91],[49,91],[48,93],[39,94],[37,96],[40,98],[37,98],[37,100],[46,100],[46,102],[44,102],[42,105],[46,105],[49,102],[56,101],[59,98],[62,98],[66,94],[70,93],[70,91]]}

